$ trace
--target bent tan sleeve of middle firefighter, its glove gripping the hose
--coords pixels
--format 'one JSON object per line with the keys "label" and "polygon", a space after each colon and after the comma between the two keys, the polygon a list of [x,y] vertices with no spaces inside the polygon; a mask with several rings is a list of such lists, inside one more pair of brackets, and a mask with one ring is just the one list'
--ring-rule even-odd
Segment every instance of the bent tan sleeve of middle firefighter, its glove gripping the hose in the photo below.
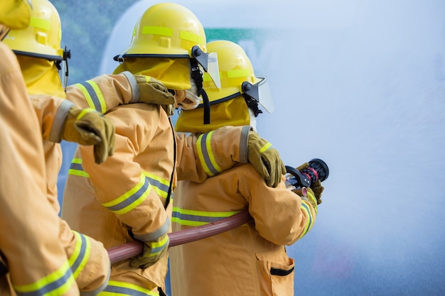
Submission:
{"label": "bent tan sleeve of middle firefighter, its glove gripping the hose", "polygon": [[[137,239],[151,241],[168,231],[170,219],[161,198],[135,159],[151,141],[165,144],[162,139],[155,138],[159,106],[141,105],[144,110],[117,108],[107,114],[116,124],[116,148],[112,158],[97,165],[91,146],[79,146],[79,149],[82,168],[90,175],[97,201],[131,227]],[[149,109],[151,111],[147,111]]]}

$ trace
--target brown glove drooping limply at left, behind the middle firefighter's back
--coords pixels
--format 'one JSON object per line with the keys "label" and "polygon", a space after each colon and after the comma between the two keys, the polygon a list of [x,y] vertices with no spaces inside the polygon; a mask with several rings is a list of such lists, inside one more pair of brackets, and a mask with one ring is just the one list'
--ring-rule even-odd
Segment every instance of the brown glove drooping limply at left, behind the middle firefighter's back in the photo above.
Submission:
{"label": "brown glove drooping limply at left, behind the middle firefighter's back", "polygon": [[114,153],[114,123],[94,109],[72,107],[63,123],[60,138],[80,145],[94,145],[97,164]]}

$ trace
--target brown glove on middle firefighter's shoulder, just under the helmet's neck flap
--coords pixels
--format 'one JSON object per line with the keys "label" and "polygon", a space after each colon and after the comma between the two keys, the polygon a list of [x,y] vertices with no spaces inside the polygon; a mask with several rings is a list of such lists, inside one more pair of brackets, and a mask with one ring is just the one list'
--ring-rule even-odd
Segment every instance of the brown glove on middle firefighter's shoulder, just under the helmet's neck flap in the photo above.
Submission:
{"label": "brown glove on middle firefighter's shoulder, just under the helmet's neck flap", "polygon": [[173,115],[175,97],[162,82],[150,76],[135,75],[139,87],[139,102],[161,105],[168,115]]}

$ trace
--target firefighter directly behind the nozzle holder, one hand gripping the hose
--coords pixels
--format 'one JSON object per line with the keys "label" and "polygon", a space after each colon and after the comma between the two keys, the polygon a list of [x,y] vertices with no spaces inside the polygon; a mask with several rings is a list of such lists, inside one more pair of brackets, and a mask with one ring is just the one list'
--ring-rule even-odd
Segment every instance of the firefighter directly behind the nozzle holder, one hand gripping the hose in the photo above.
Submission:
{"label": "firefighter directly behind the nozzle holder, one hand gripping the hose", "polygon": [[[205,42],[202,25],[185,7],[163,3],[146,9],[136,22],[131,45],[115,57],[120,65],[114,73],[131,72],[138,83],[158,81],[174,94],[174,104],[161,100],[117,106],[107,112],[116,126],[113,157],[97,165],[91,148],[80,146],[75,153],[62,217],[107,248],[135,239],[144,242],[140,256],[112,266],[104,290],[109,295],[164,295],[167,233],[177,179],[203,182],[255,155],[261,158],[256,146],[247,150],[250,134],[243,127],[215,131],[202,145],[196,137],[177,136],[173,129],[173,109],[193,109],[200,102],[202,72],[219,82],[217,60],[207,53]],[[269,182],[284,165],[276,150],[262,156],[264,163],[270,163],[264,176]],[[264,164],[260,166],[263,170]]]}

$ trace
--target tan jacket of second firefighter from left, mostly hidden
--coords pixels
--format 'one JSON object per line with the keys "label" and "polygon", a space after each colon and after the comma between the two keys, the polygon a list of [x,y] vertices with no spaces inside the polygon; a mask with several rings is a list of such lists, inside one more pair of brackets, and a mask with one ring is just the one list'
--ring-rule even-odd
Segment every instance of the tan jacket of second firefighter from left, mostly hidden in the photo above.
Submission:
{"label": "tan jacket of second firefighter from left, mostly hidden", "polygon": [[[41,124],[48,200],[56,213],[60,212],[57,194],[58,172],[62,165],[60,133],[68,110],[73,106],[92,107],[104,113],[118,104],[127,104],[132,100],[136,102],[136,98],[132,96],[132,84],[129,84],[129,79],[134,80],[134,77],[129,73],[102,75],[68,87],[68,99],[49,97],[43,94],[31,96]],[[97,97],[95,92],[91,92],[93,97],[90,97],[88,91],[92,89],[99,89],[101,96]],[[70,99],[74,103],[70,102]],[[80,290],[82,292],[103,290],[109,276],[109,258],[104,246],[100,241],[72,231],[65,221],[60,219],[59,223],[60,241],[65,246],[68,258],[70,258],[71,268],[76,275]],[[81,251],[79,252],[79,250]]]}

